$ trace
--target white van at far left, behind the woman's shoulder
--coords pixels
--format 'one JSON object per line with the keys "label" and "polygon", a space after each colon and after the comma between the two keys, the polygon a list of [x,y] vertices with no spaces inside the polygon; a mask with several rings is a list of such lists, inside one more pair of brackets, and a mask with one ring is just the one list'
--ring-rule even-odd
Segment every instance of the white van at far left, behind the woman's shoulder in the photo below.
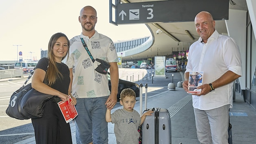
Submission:
{"label": "white van at far left, behind the woman's shoulder", "polygon": [[[22,67],[21,67],[22,65]],[[14,68],[23,68],[24,73],[32,72],[37,65],[37,61],[16,61]]]}

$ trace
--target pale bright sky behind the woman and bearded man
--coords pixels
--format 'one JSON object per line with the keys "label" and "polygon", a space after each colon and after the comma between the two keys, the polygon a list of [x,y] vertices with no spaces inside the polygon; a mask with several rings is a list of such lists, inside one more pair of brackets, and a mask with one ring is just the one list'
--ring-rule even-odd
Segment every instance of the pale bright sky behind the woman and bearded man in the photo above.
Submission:
{"label": "pale bright sky behind the woman and bearded man", "polygon": [[23,60],[39,60],[53,34],[80,35],[78,17],[87,5],[97,11],[95,30],[113,42],[151,35],[145,24],[109,23],[109,0],[0,0],[0,61],[20,59],[20,51]]}

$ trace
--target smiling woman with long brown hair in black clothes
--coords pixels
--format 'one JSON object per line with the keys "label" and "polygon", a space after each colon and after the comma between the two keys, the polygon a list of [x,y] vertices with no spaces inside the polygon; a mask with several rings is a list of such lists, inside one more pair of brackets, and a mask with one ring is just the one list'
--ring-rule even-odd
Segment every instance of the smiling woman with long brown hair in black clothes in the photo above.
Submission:
{"label": "smiling woman with long brown hair in black clothes", "polygon": [[[61,62],[68,53],[69,45],[65,34],[54,34],[48,44],[48,58],[41,58],[35,67],[32,87],[41,93],[58,96],[45,103],[42,118],[31,119],[37,144],[72,144],[69,123],[66,123],[56,103],[58,99],[67,101],[70,95],[69,69]],[[76,105],[76,98],[72,97],[70,104]]]}

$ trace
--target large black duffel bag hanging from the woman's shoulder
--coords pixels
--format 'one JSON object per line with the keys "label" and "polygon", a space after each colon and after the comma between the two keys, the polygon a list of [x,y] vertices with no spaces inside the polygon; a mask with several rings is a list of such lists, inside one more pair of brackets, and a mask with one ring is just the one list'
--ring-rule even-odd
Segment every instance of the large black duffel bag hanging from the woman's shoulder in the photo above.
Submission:
{"label": "large black duffel bag hanging from the woman's shoulder", "polygon": [[31,87],[31,83],[26,85],[34,70],[28,76],[24,85],[11,95],[9,106],[5,111],[8,116],[21,120],[41,118],[45,102],[54,97],[53,95],[36,91]]}

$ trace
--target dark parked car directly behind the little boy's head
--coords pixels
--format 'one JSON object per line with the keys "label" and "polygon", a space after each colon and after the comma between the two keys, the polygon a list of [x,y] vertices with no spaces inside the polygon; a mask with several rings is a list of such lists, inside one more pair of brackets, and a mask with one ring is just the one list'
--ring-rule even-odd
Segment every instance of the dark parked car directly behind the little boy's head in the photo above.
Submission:
{"label": "dark parked car directly behind the little boy's head", "polygon": [[[110,73],[108,72],[108,87],[111,91],[111,82],[110,82]],[[119,78],[119,84],[118,84],[118,93],[117,93],[117,100],[120,99],[120,93],[123,89],[130,88],[136,93],[136,97],[139,97],[139,85],[137,83],[133,83],[127,80],[121,80]]]}

